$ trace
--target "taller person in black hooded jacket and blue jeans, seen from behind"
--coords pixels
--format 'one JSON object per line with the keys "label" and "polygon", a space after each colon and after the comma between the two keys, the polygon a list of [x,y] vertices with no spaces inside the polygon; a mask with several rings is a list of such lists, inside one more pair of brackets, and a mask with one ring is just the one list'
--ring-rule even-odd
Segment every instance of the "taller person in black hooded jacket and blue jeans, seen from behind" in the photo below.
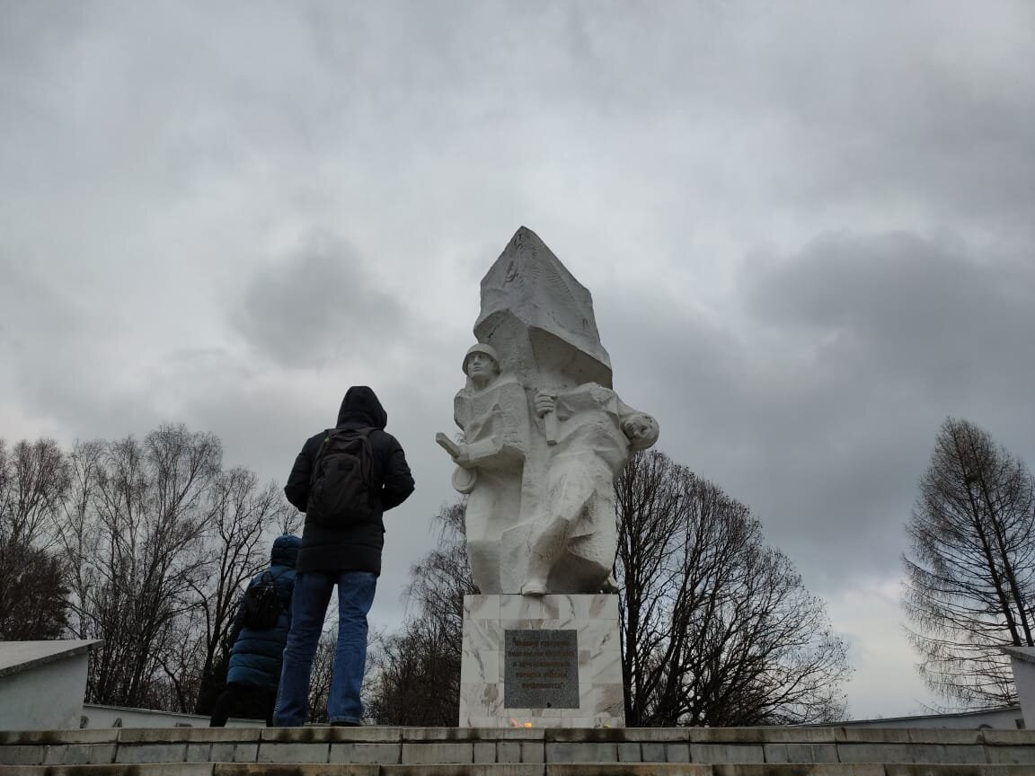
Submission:
{"label": "taller person in black hooded jacket and blue jeans, seen from behind", "polygon": [[[306,515],[298,553],[291,631],[284,650],[284,667],[273,723],[280,727],[305,724],[309,674],[330,594],[337,586],[337,650],[331,675],[327,716],[331,724],[358,725],[363,716],[359,689],[366,662],[366,615],[374,603],[384,547],[384,512],[413,493],[413,476],[402,446],[384,430],[388,414],[366,386],[349,388],[337,414],[338,429],[371,429],[371,480],[374,494],[369,515],[358,523],[328,527]],[[328,429],[330,430],[330,429]],[[317,456],[328,431],[314,435],[302,446],[284,493],[305,512]]]}

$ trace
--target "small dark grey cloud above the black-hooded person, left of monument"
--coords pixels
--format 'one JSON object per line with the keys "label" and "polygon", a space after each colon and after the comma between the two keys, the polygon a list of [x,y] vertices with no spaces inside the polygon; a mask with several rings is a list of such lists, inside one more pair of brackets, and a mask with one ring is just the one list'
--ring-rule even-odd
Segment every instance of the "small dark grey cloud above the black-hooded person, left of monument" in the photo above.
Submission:
{"label": "small dark grey cloud above the black-hooded person, left of monument", "polygon": [[405,308],[366,274],[360,257],[327,235],[257,272],[233,323],[260,353],[287,367],[376,352],[410,325]]}

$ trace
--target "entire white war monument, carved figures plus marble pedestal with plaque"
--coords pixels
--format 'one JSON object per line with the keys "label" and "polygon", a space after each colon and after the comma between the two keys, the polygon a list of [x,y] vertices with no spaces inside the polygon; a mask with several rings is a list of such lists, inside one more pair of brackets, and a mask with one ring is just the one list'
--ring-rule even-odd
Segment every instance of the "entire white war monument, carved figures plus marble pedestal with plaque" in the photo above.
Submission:
{"label": "entire white war monument, carved figures plus marble pedestal with plaque", "polygon": [[461,726],[624,726],[614,480],[657,441],[612,389],[593,301],[531,230],[481,281],[437,441],[468,495]]}

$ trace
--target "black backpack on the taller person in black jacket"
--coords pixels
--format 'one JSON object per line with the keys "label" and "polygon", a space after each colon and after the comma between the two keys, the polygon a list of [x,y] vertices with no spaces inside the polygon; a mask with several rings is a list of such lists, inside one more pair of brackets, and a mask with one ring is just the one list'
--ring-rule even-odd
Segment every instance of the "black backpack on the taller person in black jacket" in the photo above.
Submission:
{"label": "black backpack on the taller person in black jacket", "polygon": [[373,428],[330,428],[313,465],[305,514],[327,528],[368,520],[374,450]]}

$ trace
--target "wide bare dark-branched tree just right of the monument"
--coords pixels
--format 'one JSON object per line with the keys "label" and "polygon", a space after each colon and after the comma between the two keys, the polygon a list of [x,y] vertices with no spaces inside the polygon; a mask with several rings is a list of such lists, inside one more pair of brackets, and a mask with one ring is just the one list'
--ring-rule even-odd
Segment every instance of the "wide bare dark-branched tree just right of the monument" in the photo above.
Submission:
{"label": "wide bare dark-branched tree just right of the monument", "polygon": [[657,451],[615,493],[626,723],[839,718],[846,647],[747,507]]}

